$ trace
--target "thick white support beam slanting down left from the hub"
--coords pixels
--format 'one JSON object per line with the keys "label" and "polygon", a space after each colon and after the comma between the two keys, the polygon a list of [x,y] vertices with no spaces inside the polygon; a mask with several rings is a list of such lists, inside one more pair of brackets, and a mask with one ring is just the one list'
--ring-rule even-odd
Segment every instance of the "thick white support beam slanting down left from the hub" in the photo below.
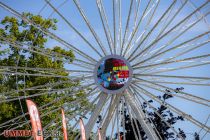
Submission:
{"label": "thick white support beam slanting down left from the hub", "polygon": [[97,121],[100,111],[101,111],[102,107],[104,106],[104,104],[106,103],[106,99],[108,98],[108,95],[104,94],[104,93],[99,94],[99,96],[100,97],[99,97],[99,101],[96,105],[96,108],[94,109],[88,123],[85,125],[87,138],[90,137],[90,133],[95,125],[95,122]]}

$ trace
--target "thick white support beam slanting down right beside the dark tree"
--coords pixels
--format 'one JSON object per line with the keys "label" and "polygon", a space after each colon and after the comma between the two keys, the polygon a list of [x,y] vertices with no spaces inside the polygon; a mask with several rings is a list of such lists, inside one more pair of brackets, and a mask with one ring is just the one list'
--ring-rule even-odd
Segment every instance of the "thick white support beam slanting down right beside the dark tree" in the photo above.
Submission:
{"label": "thick white support beam slanting down right beside the dark tree", "polygon": [[145,131],[148,139],[158,139],[156,136],[152,126],[148,123],[148,120],[146,119],[143,111],[138,108],[135,104],[135,99],[132,93],[126,91],[126,94],[124,94],[125,100],[129,105],[131,106],[133,112],[135,112],[135,115],[137,116],[138,121],[140,122],[143,130]]}

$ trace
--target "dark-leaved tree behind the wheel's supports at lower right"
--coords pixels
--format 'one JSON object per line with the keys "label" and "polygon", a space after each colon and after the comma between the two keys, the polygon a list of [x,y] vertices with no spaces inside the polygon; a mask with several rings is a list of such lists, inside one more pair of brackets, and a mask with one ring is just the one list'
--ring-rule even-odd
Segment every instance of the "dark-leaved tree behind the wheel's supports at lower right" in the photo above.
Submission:
{"label": "dark-leaved tree behind the wheel's supports at lower right", "polygon": [[[183,90],[183,89],[184,89],[183,87],[176,88],[176,90],[173,94],[179,94],[179,91]],[[153,103],[153,100],[143,102],[141,108],[144,113],[148,114],[147,117],[148,117],[149,122],[154,124],[156,130],[159,133],[159,134],[157,134],[157,136],[159,135],[159,137],[161,137],[163,140],[169,140],[169,139],[175,140],[178,136],[171,130],[171,128],[158,115],[158,113],[159,113],[161,115],[161,117],[163,119],[165,119],[166,122],[168,124],[170,124],[170,126],[172,126],[172,127],[178,121],[184,121],[184,118],[182,116],[175,116],[167,107],[164,106],[167,104],[165,101],[173,97],[171,94],[167,94],[167,93],[172,93],[172,91],[166,89],[166,93],[163,96],[158,96],[158,98],[162,99],[163,105],[158,107],[156,109],[156,111],[147,111],[146,112],[146,110],[149,110],[149,108],[150,108],[150,106],[148,106],[148,103]],[[139,130],[141,139],[146,140],[147,139],[146,133],[144,132],[143,128],[141,127],[141,124],[139,123],[138,119],[130,118],[130,115],[128,113],[126,105],[122,111],[124,111],[126,139],[135,140],[136,139],[135,133],[138,137],[137,131]],[[123,115],[122,111],[121,111],[121,115]],[[178,133],[184,139],[186,138],[186,134],[184,133],[184,131],[182,129],[178,128]],[[123,135],[122,132],[121,132],[121,135]],[[117,136],[117,134],[116,134],[116,136]],[[195,137],[195,140],[199,140],[199,135],[197,133],[194,134],[194,137]]]}

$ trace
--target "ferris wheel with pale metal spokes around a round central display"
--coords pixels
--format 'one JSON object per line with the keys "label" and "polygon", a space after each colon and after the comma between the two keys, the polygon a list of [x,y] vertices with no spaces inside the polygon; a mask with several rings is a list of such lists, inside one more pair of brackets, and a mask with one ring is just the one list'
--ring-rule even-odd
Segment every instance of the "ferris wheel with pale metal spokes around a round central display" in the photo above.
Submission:
{"label": "ferris wheel with pale metal spokes around a round central display", "polygon": [[[41,114],[41,119],[61,107],[66,112],[74,107],[77,113],[66,116],[69,130],[79,129],[78,117],[82,116],[87,138],[95,134],[93,137],[97,139],[98,128],[101,128],[102,139],[112,139],[115,134],[122,133],[125,140],[127,114],[133,129],[136,129],[137,122],[132,120],[136,119],[149,140],[162,139],[157,126],[150,120],[149,112],[152,111],[177,135],[176,139],[184,139],[178,127],[189,133],[189,139],[193,139],[191,133],[195,131],[201,139],[210,138],[209,0],[44,0],[26,2],[30,5],[24,3],[19,4],[20,8],[9,1],[1,1],[0,11],[25,21],[48,36],[45,47],[57,45],[72,50],[75,59],[69,63],[58,57],[68,58],[62,53],[49,54],[45,48],[35,48],[31,45],[33,43],[14,42],[0,36],[1,43],[57,59],[64,63],[65,68],[30,67],[27,64],[23,67],[19,64],[20,57],[15,66],[0,66],[0,74],[5,80],[8,76],[16,79],[16,90],[1,93],[0,105],[19,101],[22,109],[21,101],[28,98],[63,94],[63,97],[39,106],[42,110],[84,91],[84,96],[72,102],[66,101],[58,108],[50,108],[49,112]],[[22,12],[57,19],[57,30],[42,28],[45,25],[36,24]],[[68,75],[55,73],[63,71]],[[27,76],[68,80],[18,88],[18,78]],[[78,81],[77,86],[53,90],[59,85]],[[25,91],[34,94],[18,94]],[[13,92],[17,94],[11,95]],[[160,97],[164,94],[173,98],[165,100]],[[89,105],[80,108],[78,103],[84,98]],[[142,108],[143,105],[147,108]],[[160,106],[185,121],[172,126],[157,111]],[[27,115],[22,109],[22,114],[0,124],[0,128],[18,129],[29,125]],[[25,121],[19,122],[23,118]],[[62,127],[51,120],[43,129],[51,125],[56,126],[54,131]],[[141,139],[140,130],[134,134],[136,139]]]}

